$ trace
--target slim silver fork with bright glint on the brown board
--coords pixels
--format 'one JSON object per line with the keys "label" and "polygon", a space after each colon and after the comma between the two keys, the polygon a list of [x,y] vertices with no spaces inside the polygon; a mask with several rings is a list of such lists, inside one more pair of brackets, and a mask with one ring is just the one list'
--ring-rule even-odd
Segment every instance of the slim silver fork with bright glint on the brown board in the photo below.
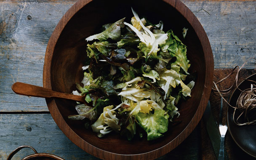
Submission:
{"label": "slim silver fork with bright glint on the brown board", "polygon": [[222,97],[221,97],[221,108],[219,113],[219,132],[221,133],[221,145],[219,148],[219,158],[218,160],[224,160],[224,140],[227,132],[227,123],[222,125]]}

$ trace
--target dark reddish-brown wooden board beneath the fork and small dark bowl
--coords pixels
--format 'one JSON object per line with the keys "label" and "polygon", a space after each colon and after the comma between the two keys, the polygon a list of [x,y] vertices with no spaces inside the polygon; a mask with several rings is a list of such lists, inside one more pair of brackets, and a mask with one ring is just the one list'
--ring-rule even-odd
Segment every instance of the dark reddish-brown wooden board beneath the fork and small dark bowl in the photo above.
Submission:
{"label": "dark reddish-brown wooden board beneath the fork and small dark bowl", "polygon": [[[232,69],[215,69],[214,70],[214,77],[213,81],[217,82],[221,80],[222,78],[226,77]],[[240,74],[239,74],[239,80],[238,84],[242,82],[246,77],[256,73],[256,69],[241,69]],[[232,74],[230,77],[228,77],[226,80],[221,82],[218,87],[219,89],[227,89],[230,86],[232,86],[232,83],[235,80],[235,75]],[[224,98],[229,100],[229,97],[231,96],[232,92],[235,90],[235,87],[231,90],[230,93],[224,95]],[[212,91],[211,96],[210,96],[210,103],[211,103],[211,108],[213,112],[213,116],[215,117],[215,120],[217,123],[219,123],[219,109],[220,109],[220,100],[221,97],[219,96],[219,93]],[[227,103],[223,102],[223,117],[224,117],[224,123],[225,123],[225,117],[227,113]],[[208,134],[206,132],[206,128],[204,124],[202,123],[201,125],[201,133],[202,133],[202,155],[203,155],[203,160],[208,160],[208,159],[213,159],[215,158],[213,148],[211,147],[211,141],[208,138]],[[228,154],[229,160],[241,160],[241,159],[246,159],[246,160],[253,160],[254,158],[251,157],[250,155],[247,155],[242,149],[240,149],[237,144],[235,144],[235,141],[233,141],[232,137],[230,136],[230,133],[227,132],[226,137],[225,137],[225,149]]]}

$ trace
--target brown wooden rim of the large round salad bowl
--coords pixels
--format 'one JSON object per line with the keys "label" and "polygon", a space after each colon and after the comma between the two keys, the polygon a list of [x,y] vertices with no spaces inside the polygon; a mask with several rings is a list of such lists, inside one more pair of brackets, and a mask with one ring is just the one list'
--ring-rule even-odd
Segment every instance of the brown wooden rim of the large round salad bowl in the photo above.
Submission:
{"label": "brown wooden rim of the large round salad bowl", "polygon": [[[57,24],[56,28],[53,30],[53,33],[48,41],[48,45],[45,51],[45,63],[43,67],[43,87],[52,89],[51,87],[51,60],[53,58],[53,52],[54,52],[54,46],[56,45],[59,36],[61,35],[62,30],[66,26],[66,24],[69,22],[69,20],[77,13],[81,8],[83,8],[88,3],[92,2],[93,0],[79,0],[74,5],[72,5],[71,8],[64,14],[64,16],[61,18],[59,23]],[[213,53],[211,50],[211,45],[208,40],[208,37],[205,33],[205,30],[203,29],[203,26],[200,24],[196,16],[192,13],[192,11],[187,8],[186,5],[184,5],[180,0],[163,0],[165,3],[168,3],[173,8],[175,8],[179,13],[181,13],[184,18],[187,19],[189,24],[193,27],[195,30],[197,37],[200,40],[200,43],[203,48],[204,53],[204,60],[206,68],[205,72],[209,74],[205,74],[205,86],[203,89],[203,96],[200,100],[199,106],[197,108],[197,111],[195,112],[195,115],[192,117],[192,120],[189,122],[189,124],[184,128],[183,131],[172,141],[170,141],[168,144],[166,144],[163,147],[160,147],[158,149],[152,150],[150,152],[136,154],[136,155],[123,155],[123,154],[117,154],[112,153],[108,151],[104,151],[102,149],[99,149],[88,142],[84,141],[80,136],[78,136],[65,122],[64,118],[61,116],[61,113],[59,112],[59,109],[56,107],[56,102],[53,98],[46,98],[46,103],[48,106],[48,109],[51,113],[51,116],[53,117],[53,120],[56,122],[56,124],[59,126],[61,131],[78,147],[83,149],[85,152],[88,152],[89,154],[99,157],[101,159],[155,159],[157,157],[160,157],[162,155],[165,155],[166,153],[170,152],[172,149],[177,147],[184,139],[189,136],[189,134],[195,129],[199,121],[201,120],[203,113],[205,111],[206,105],[208,103],[208,99],[210,97],[211,93],[211,87],[212,87],[212,80],[213,80],[213,69],[214,69],[214,62],[213,62]],[[65,131],[65,132],[64,132]]]}

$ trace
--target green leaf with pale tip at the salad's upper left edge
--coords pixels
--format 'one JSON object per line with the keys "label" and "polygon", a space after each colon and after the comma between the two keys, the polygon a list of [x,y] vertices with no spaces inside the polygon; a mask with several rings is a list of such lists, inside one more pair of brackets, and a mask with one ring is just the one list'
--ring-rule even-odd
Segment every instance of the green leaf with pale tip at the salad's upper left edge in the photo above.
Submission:
{"label": "green leaf with pale tip at the salad's upper left edge", "polygon": [[90,37],[87,37],[85,40],[107,40],[108,38],[111,38],[112,40],[119,40],[121,36],[121,28],[124,27],[123,21],[125,18],[120,19],[119,21],[116,21],[113,23],[109,28],[107,28],[105,31],[96,34],[91,35]]}

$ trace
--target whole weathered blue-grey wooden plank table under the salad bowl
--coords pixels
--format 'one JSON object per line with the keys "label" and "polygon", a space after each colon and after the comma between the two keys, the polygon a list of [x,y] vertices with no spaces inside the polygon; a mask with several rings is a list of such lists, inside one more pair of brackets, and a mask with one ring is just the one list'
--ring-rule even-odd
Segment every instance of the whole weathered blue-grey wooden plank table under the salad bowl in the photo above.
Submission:
{"label": "whole weathered blue-grey wooden plank table under the salad bowl", "polygon": [[[15,82],[43,86],[43,64],[48,39],[64,13],[76,0],[0,1],[0,160],[13,149],[30,145],[67,160],[97,159],[73,144],[53,121],[45,99],[20,96],[11,90]],[[182,0],[197,16],[211,43],[215,77],[224,77],[228,68],[241,66],[256,56],[256,1]],[[254,62],[245,64],[244,76],[255,72]],[[223,70],[224,69],[224,70]],[[251,70],[250,70],[251,69]],[[213,114],[219,114],[219,97],[212,93]],[[229,159],[246,155],[226,136]],[[14,160],[32,154],[20,151]],[[239,154],[238,154],[239,153]],[[216,159],[201,121],[176,149],[159,159]]]}

